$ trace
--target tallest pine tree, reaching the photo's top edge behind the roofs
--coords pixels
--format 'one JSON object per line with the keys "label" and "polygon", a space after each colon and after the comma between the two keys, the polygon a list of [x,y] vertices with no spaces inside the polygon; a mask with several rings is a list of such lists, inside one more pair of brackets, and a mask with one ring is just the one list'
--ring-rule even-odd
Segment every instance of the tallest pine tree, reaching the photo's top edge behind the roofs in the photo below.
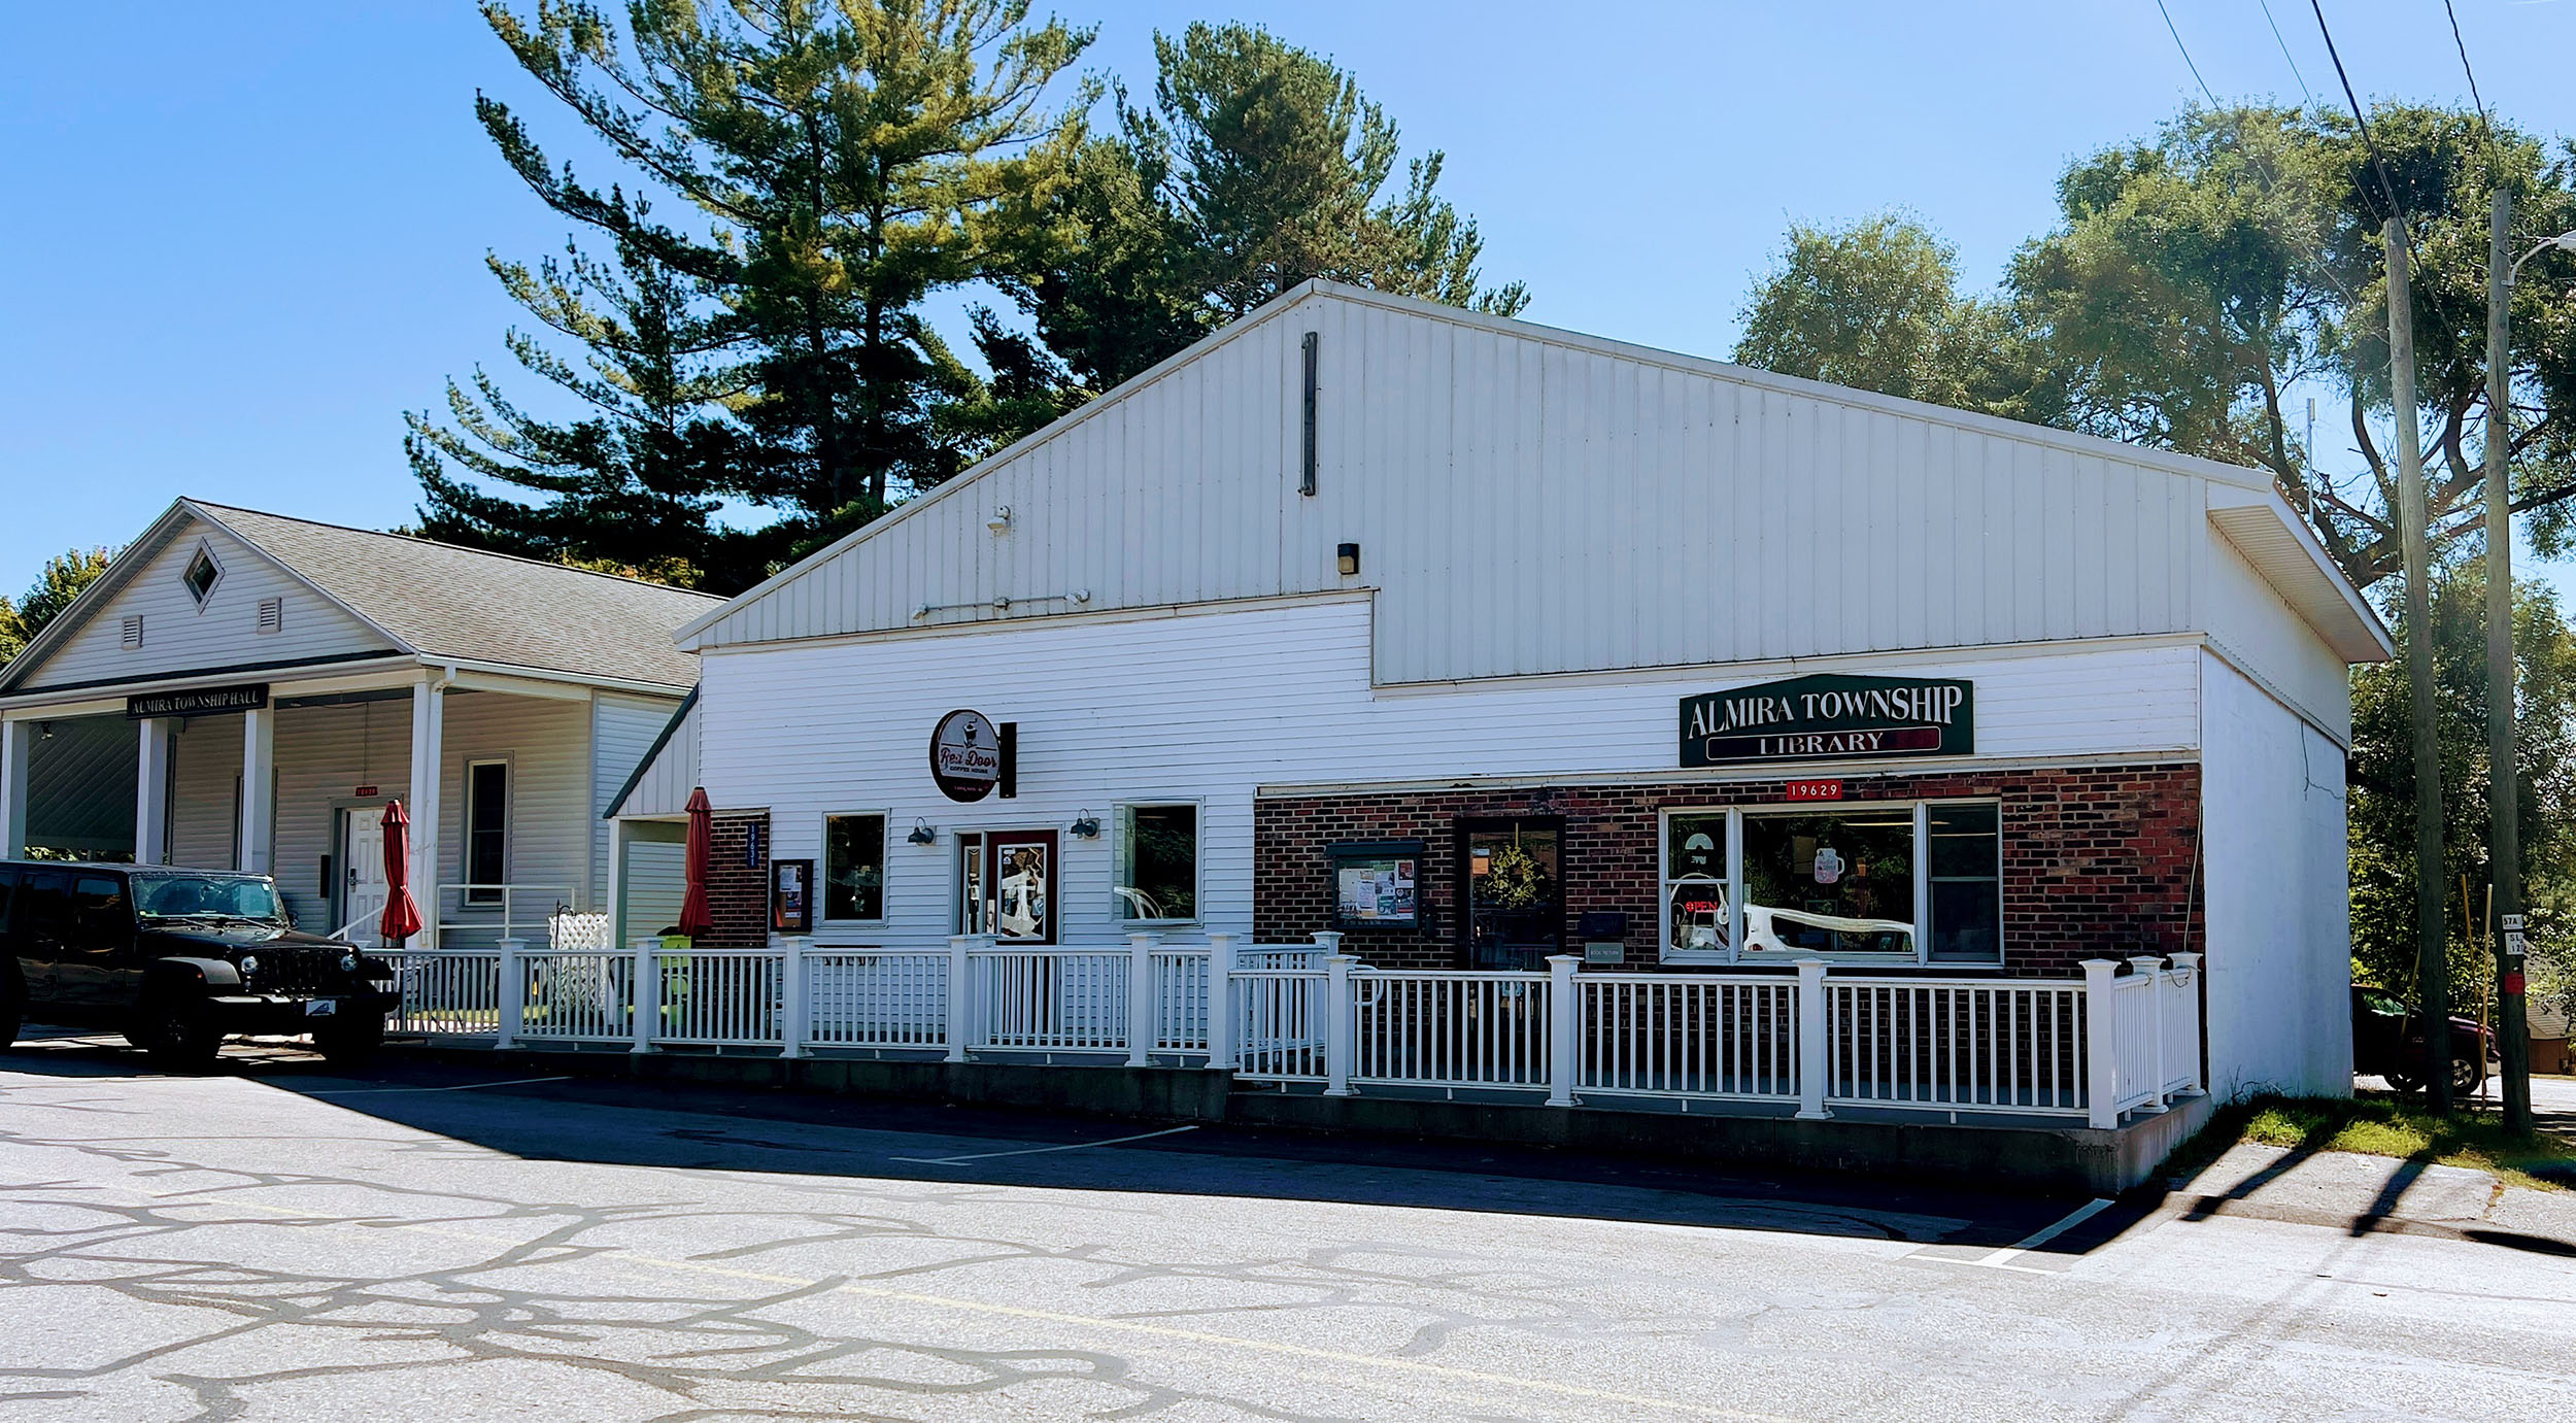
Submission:
{"label": "tallest pine tree, reaching the photo's top edge behind the roofs", "polygon": [[[992,268],[1005,204],[1061,180],[1069,126],[1043,95],[1090,31],[1025,0],[631,0],[621,34],[587,3],[492,31],[652,186],[711,224],[657,258],[724,302],[747,441],[734,492],[781,510],[773,541],[848,528],[963,467],[953,405],[989,397],[922,302]],[[623,229],[626,204],[556,168],[492,98],[502,157],[564,217]],[[783,549],[791,552],[791,549]]]}

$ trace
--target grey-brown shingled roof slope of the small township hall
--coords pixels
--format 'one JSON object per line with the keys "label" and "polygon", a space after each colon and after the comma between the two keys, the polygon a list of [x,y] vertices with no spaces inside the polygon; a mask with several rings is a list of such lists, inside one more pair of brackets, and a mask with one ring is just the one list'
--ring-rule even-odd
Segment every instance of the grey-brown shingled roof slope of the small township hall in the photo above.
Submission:
{"label": "grey-brown shingled roof slope of the small township hall", "polygon": [[670,634],[719,603],[706,593],[410,534],[188,503],[422,657],[675,688],[698,681],[698,657]]}

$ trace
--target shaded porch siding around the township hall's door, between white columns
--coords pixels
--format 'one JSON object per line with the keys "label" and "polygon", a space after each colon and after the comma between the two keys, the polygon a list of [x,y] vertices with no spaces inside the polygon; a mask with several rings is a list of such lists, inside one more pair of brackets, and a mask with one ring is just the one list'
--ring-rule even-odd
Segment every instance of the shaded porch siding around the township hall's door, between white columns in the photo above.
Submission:
{"label": "shaded porch siding around the township hall's door, between white columns", "polygon": [[[196,730],[232,727],[240,717],[198,722]],[[322,856],[332,874],[340,861],[340,812],[358,804],[358,786],[376,786],[376,802],[355,815],[384,815],[384,797],[412,794],[412,699],[361,701],[355,706],[286,706],[276,730],[278,825],[270,874],[286,892],[296,923],[317,933],[340,928],[330,920],[332,895],[322,887]],[[240,735],[232,766],[240,766]],[[227,835],[229,843],[229,835]]]}

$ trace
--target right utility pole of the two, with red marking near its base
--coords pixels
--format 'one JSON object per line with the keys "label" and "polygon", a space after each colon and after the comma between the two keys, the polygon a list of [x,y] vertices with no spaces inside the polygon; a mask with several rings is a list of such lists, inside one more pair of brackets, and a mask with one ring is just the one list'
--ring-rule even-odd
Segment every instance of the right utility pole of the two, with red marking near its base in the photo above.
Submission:
{"label": "right utility pole of the two, with red marking near its base", "polygon": [[2522,1018],[2522,822],[2514,784],[2514,505],[2504,474],[2512,449],[2514,253],[2504,235],[2514,198],[2494,193],[2486,229],[2486,815],[2494,822],[2496,1036],[2504,1039],[2504,1129],[2532,1129],[2532,1034]]}

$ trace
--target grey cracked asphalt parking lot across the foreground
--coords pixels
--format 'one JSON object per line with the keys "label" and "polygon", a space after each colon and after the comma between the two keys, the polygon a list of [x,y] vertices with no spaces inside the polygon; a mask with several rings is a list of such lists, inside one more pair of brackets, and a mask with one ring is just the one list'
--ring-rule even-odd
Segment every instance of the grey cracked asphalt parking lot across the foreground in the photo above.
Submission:
{"label": "grey cracked asphalt parking lot across the foreground", "polygon": [[283,1047],[165,1078],[54,1039],[0,1054],[0,1420],[2530,1418],[2576,1395],[2576,1196],[2339,1181],[2231,1152],[2014,1250],[2084,1201],[399,1057],[350,1078]]}

